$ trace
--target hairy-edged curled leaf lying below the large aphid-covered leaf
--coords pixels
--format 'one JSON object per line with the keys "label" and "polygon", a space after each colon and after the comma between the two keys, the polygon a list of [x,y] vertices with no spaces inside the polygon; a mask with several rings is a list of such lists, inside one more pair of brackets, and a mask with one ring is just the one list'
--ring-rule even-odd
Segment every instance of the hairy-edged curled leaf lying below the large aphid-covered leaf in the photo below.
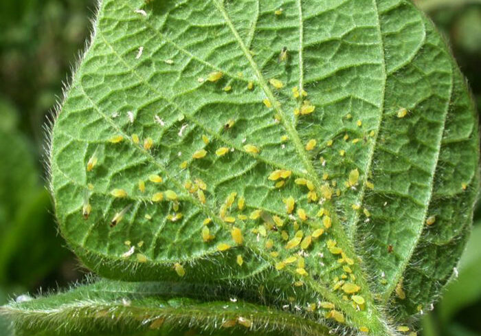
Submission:
{"label": "hairy-edged curled leaf lying below the large aphid-covered leaf", "polygon": [[[195,290],[193,295],[200,295],[203,289],[212,297],[208,302],[178,298],[186,289]],[[210,290],[190,284],[101,280],[66,293],[12,302],[2,313],[12,316],[19,335],[38,331],[99,336],[183,335],[188,331],[189,335],[244,335],[243,331],[252,335],[328,335],[326,328],[302,317],[234,298],[223,302]]]}

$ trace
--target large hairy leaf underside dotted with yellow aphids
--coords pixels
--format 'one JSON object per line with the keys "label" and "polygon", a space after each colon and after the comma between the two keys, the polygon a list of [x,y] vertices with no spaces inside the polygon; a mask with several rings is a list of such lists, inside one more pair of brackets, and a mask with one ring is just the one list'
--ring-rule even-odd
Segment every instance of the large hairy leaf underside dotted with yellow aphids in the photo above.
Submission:
{"label": "large hairy leaf underside dotted with yellow aphids", "polygon": [[464,247],[476,125],[410,2],[104,0],[53,128],[56,214],[101,276],[394,335]]}

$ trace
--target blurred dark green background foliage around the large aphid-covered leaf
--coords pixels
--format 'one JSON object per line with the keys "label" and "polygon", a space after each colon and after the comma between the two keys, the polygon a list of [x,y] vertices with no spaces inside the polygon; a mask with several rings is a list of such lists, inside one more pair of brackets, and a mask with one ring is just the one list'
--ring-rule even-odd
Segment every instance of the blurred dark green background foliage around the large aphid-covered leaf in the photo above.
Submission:
{"label": "blurred dark green background foliage around the large aphid-covered leaf", "polygon": [[[417,0],[481,106],[481,0]],[[0,304],[81,279],[45,188],[44,125],[85,47],[96,0],[0,0]],[[481,208],[459,277],[422,321],[424,336],[481,336]],[[0,320],[0,335],[7,328]]]}

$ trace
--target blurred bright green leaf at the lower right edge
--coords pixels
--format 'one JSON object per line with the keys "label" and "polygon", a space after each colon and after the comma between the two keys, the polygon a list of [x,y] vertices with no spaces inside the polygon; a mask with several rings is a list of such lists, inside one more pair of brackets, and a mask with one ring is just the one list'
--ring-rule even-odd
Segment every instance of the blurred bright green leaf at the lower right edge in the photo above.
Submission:
{"label": "blurred bright green leaf at the lower right edge", "polygon": [[476,225],[459,265],[458,280],[449,283],[439,305],[440,320],[447,324],[460,309],[481,298],[481,226]]}

